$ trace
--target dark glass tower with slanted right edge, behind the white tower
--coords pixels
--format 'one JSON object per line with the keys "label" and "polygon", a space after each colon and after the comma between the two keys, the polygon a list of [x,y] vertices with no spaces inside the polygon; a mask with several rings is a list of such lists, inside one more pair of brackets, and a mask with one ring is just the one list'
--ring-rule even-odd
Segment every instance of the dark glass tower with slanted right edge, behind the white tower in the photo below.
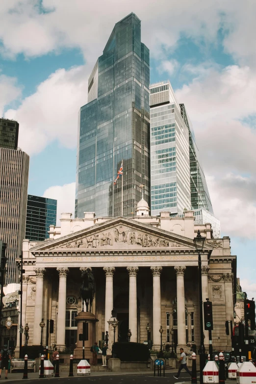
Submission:
{"label": "dark glass tower with slanted right edge, behind the white tower", "polygon": [[181,116],[189,130],[189,159],[190,159],[190,193],[192,209],[204,208],[213,215],[210,195],[207,188],[205,174],[200,161],[200,155],[195,140],[193,126],[188,117],[184,104],[180,105]]}

